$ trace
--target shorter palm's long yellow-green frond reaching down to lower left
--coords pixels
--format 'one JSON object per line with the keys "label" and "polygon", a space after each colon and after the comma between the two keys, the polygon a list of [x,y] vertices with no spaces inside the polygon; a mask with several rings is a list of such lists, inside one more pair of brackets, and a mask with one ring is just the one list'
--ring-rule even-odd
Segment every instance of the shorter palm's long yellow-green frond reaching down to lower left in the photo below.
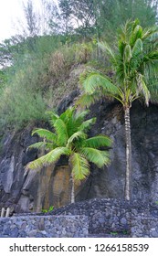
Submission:
{"label": "shorter palm's long yellow-green frond reaching down to lower left", "polygon": [[70,152],[67,147],[57,147],[47,153],[47,155],[43,155],[38,159],[28,163],[26,165],[26,170],[37,170],[41,169],[43,166],[54,164],[58,161],[61,155],[69,155]]}

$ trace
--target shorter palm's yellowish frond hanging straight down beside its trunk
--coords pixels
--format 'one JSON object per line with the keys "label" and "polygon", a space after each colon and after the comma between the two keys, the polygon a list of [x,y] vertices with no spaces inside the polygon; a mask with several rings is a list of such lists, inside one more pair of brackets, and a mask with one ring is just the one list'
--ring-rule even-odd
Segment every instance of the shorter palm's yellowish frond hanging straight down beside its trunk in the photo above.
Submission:
{"label": "shorter palm's yellowish frond hanging straight down beside its trunk", "polygon": [[79,153],[74,153],[70,157],[72,174],[76,181],[83,180],[90,175],[90,165],[86,158]]}

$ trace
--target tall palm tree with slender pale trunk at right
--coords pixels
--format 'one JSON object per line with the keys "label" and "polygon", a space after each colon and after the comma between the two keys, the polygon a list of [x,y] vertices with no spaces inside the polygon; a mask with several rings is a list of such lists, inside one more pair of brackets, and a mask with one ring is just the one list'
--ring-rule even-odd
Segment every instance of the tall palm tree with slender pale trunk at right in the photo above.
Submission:
{"label": "tall palm tree with slender pale trunk at right", "polygon": [[[113,51],[107,43],[100,43],[111,60],[112,80],[94,70],[80,78],[84,93],[79,104],[90,106],[102,96],[121,102],[124,110],[126,141],[125,198],[131,198],[132,140],[130,109],[132,102],[143,98],[148,106],[158,96],[158,27],[142,29],[139,21],[127,21],[121,27],[118,46]],[[158,99],[158,98],[157,98]]]}

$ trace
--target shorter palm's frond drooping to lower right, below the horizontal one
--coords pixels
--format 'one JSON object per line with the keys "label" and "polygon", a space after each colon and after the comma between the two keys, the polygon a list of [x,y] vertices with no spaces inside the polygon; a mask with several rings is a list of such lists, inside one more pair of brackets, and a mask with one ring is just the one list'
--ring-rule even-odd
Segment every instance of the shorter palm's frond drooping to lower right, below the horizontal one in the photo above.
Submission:
{"label": "shorter palm's frond drooping to lower right, below the horizontal one", "polygon": [[110,164],[110,154],[107,151],[101,151],[91,147],[84,147],[81,149],[81,154],[99,168],[103,167],[103,165]]}

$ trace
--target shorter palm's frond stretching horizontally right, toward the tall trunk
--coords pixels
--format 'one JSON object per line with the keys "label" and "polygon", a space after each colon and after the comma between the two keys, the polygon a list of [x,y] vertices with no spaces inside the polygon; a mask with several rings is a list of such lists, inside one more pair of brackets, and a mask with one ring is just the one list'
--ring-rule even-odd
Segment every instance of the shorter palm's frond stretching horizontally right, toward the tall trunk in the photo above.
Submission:
{"label": "shorter palm's frond stretching horizontally right, toward the tall trunk", "polygon": [[102,146],[111,147],[111,138],[100,134],[85,140],[86,147],[100,148]]}

